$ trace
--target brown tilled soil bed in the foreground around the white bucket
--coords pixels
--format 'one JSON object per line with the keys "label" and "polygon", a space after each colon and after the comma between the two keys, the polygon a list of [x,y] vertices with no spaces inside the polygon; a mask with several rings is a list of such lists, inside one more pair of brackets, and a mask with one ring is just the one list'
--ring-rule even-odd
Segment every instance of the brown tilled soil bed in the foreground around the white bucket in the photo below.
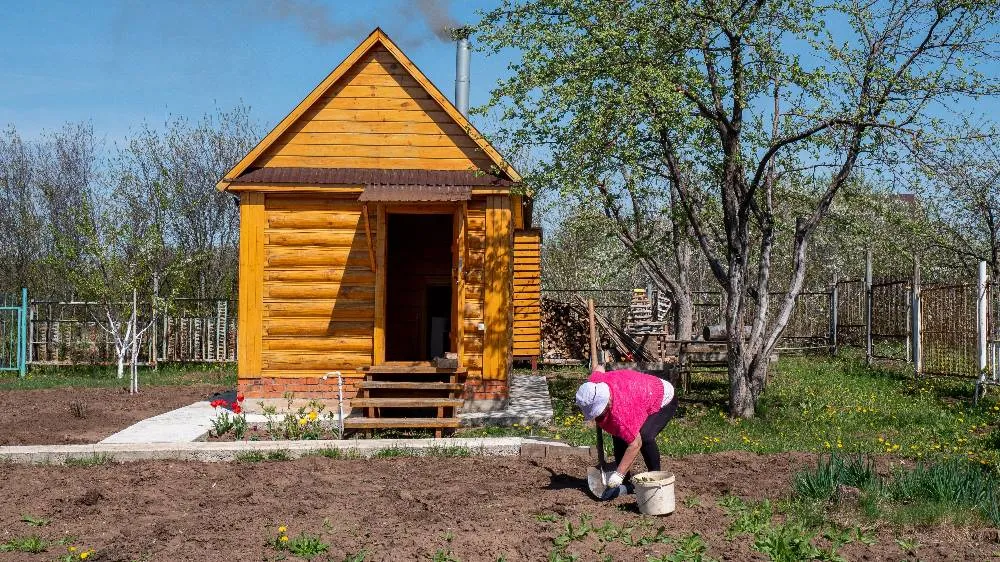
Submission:
{"label": "brown tilled soil bed in the foreground around the white bucket", "polygon": [[[634,496],[597,503],[584,491],[587,462],[545,458],[322,457],[257,464],[138,462],[90,468],[0,464],[0,543],[38,534],[75,537],[97,560],[276,560],[268,541],[279,525],[296,537],[317,535],[330,545],[316,560],[343,560],[362,550],[368,560],[546,560],[565,522],[634,526],[650,536],[660,526],[671,537],[700,533],[710,556],[764,560],[747,537],[726,540],[730,518],[717,506],[725,494],[780,499],[791,479],[814,457],[719,453],[665,459],[677,475],[677,511],[643,517]],[[696,500],[695,500],[696,498]],[[48,519],[30,526],[22,516]],[[553,520],[554,519],[554,520]],[[852,543],[848,560],[984,560],[997,550],[982,533],[912,530],[920,544],[903,552],[889,529],[874,545]],[[596,533],[572,542],[580,560],[643,561],[673,552],[669,544],[626,546]],[[41,554],[0,553],[0,560],[53,560]]]}

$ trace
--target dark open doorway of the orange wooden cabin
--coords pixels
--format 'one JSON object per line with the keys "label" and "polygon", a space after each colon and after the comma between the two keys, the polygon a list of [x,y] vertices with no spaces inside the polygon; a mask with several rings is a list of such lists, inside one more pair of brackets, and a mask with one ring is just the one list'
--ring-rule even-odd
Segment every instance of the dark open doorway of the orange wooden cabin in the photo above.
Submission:
{"label": "dark open doorway of the orange wooden cabin", "polygon": [[389,217],[386,361],[429,361],[451,348],[451,215]]}

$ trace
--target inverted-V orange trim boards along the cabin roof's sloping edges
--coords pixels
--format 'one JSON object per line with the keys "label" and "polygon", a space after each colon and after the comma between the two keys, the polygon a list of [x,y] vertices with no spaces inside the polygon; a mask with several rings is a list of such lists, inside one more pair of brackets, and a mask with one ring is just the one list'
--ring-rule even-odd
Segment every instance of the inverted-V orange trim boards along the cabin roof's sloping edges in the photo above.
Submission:
{"label": "inverted-V orange trim boards along the cabin roof's sloping edges", "polygon": [[504,160],[503,156],[496,151],[493,146],[491,146],[482,134],[472,126],[472,123],[462,115],[454,104],[448,100],[441,92],[438,90],[430,80],[420,69],[414,65],[406,55],[392,42],[391,39],[382,31],[381,28],[375,28],[374,31],[361,42],[354,51],[351,52],[347,58],[344,59],[334,70],[331,72],[322,82],[319,83],[312,92],[306,96],[280,123],[261,140],[257,146],[253,148],[246,156],[236,166],[234,166],[226,175],[219,181],[217,187],[219,189],[226,189],[230,183],[239,182],[242,180],[241,175],[248,172],[254,168],[254,164],[261,159],[262,155],[274,145],[278,139],[289,130],[290,127],[302,117],[317,101],[322,98],[328,91],[334,88],[337,81],[344,77],[350,70],[358,63],[359,60],[364,57],[364,55],[376,46],[381,45],[385,50],[387,50],[396,59],[402,68],[406,70],[407,73],[422,87],[430,98],[441,107],[441,109],[457,124],[465,134],[475,142],[479,149],[485,154],[489,160],[496,165],[499,170],[501,179],[509,180],[512,182],[520,182],[521,176],[517,171]]}

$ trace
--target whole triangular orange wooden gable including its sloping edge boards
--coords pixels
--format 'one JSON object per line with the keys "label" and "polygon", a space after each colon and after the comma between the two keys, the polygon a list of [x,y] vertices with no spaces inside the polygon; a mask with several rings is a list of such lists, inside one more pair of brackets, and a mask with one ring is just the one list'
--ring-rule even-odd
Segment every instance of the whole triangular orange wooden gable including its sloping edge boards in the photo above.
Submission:
{"label": "whole triangular orange wooden gable including its sloping edge boards", "polygon": [[257,168],[469,170],[520,177],[380,30],[219,183]]}

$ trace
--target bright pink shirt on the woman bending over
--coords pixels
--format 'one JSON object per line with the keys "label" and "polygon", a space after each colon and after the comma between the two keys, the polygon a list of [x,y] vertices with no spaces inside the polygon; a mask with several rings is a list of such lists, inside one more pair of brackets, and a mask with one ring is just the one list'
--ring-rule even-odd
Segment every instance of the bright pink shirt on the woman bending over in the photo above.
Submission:
{"label": "bright pink shirt on the woman bending over", "polygon": [[603,382],[611,388],[611,412],[601,429],[631,443],[650,414],[662,407],[665,386],[653,375],[623,369],[592,373],[591,382]]}

